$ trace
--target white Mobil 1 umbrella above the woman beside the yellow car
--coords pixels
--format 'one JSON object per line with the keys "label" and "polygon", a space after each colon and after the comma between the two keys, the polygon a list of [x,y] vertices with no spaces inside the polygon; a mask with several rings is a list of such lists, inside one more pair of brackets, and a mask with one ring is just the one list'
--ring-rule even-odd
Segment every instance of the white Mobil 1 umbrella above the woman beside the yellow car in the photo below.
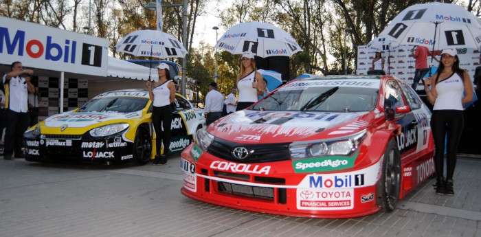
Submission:
{"label": "white Mobil 1 umbrella above the woman beside the yellow car", "polygon": [[115,45],[117,52],[154,58],[183,58],[187,50],[182,43],[165,32],[137,30],[127,34]]}

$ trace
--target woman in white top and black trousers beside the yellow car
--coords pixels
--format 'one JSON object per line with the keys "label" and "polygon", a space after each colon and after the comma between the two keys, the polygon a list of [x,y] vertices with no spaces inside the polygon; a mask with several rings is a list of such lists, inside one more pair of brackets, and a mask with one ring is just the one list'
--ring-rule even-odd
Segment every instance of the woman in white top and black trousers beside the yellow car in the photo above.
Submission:
{"label": "woman in white top and black trousers beside the yellow car", "polygon": [[[150,100],[153,101],[152,107],[152,123],[154,125],[155,147],[157,155],[155,155],[154,165],[167,163],[168,148],[170,146],[170,126],[172,125],[172,109],[170,104],[175,102],[175,84],[170,80],[168,65],[161,63],[156,67],[159,74],[159,80],[147,82]],[[161,129],[161,126],[164,129]],[[163,131],[162,131],[163,130]],[[161,144],[164,144],[164,155],[161,155]]]}

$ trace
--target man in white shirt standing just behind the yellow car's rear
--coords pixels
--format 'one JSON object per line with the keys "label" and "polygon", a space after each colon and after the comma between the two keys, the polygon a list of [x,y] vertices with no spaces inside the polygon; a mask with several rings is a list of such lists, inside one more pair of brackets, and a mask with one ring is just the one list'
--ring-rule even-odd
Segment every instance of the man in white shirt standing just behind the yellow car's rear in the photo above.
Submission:
{"label": "man in white shirt standing just behind the yellow car's rear", "polygon": [[223,95],[217,91],[217,83],[211,82],[208,87],[209,93],[205,95],[205,124],[209,126],[212,122],[222,117]]}

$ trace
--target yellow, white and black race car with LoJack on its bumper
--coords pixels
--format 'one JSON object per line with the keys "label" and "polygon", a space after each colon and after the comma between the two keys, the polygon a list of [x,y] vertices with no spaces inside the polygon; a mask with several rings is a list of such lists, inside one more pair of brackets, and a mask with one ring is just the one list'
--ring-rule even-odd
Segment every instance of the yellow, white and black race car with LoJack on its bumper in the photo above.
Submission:
{"label": "yellow, white and black race car with LoJack on its bumper", "polygon": [[[170,153],[186,148],[197,129],[205,126],[205,119],[181,95],[175,96],[175,105]],[[23,137],[27,161],[110,164],[135,160],[143,165],[156,154],[152,103],[142,89],[97,95],[74,111],[48,117]]]}

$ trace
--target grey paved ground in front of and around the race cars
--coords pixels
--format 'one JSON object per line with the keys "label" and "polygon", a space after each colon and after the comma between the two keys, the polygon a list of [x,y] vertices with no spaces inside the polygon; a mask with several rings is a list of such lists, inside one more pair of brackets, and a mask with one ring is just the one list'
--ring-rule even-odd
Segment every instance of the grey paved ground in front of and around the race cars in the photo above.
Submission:
{"label": "grey paved ground in front of and around the race cars", "polygon": [[312,219],[244,212],[180,193],[166,166],[88,167],[0,157],[0,236],[481,236],[481,159],[456,166],[455,196],[431,179],[390,214]]}

